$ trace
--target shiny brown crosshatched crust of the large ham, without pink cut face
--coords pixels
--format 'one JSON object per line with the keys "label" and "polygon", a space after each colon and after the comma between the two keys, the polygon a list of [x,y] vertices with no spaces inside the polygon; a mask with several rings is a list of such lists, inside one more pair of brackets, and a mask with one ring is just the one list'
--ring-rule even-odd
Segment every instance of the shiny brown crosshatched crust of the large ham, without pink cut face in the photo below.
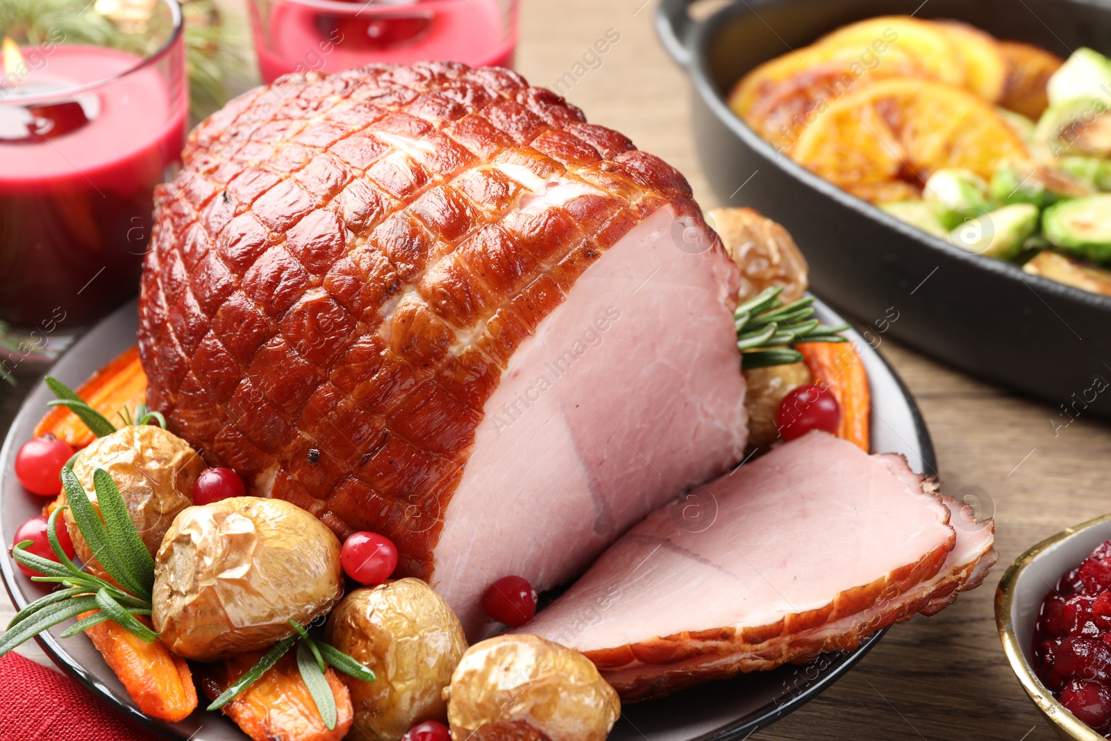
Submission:
{"label": "shiny brown crosshatched crust of the large ham, without pink cut face", "polygon": [[[382,532],[426,580],[514,351],[652,214],[708,233],[678,171],[504,69],[290,76],[203,122],[183,160],[141,283],[150,407],[251,493]],[[725,327],[735,277],[713,280]],[[663,495],[743,449],[734,417]]]}

